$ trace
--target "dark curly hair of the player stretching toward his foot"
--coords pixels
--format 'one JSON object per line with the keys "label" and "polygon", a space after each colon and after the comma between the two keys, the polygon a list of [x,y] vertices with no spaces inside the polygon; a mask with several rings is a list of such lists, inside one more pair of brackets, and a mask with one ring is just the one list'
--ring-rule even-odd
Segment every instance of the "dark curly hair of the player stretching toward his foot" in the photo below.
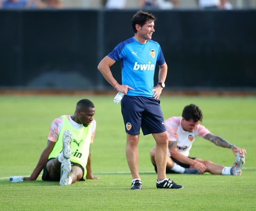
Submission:
{"label": "dark curly hair of the player stretching toward his foot", "polygon": [[184,107],[182,117],[184,117],[186,121],[193,119],[194,122],[197,122],[198,120],[203,120],[203,113],[198,106],[195,104],[190,104]]}

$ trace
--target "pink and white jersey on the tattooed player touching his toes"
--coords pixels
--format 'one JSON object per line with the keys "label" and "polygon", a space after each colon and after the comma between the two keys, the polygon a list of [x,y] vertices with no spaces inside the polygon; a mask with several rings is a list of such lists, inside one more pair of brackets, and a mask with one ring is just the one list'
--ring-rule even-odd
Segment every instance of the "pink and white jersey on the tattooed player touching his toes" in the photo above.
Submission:
{"label": "pink and white jersey on the tattooed player touching his toes", "polygon": [[[203,125],[198,124],[193,132],[184,131],[181,127],[182,117],[171,117],[165,121],[165,126],[169,135],[169,141],[177,141],[177,150],[185,156],[189,156],[189,150],[196,136],[204,137],[209,134]],[[168,149],[168,156],[170,151]]]}

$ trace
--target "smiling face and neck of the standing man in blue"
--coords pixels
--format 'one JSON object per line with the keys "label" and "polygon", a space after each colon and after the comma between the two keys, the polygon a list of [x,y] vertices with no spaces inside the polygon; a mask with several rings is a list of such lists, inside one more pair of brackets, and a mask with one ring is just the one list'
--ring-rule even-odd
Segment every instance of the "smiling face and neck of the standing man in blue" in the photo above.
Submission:
{"label": "smiling face and neck of the standing man in blue", "polygon": [[134,38],[140,40],[140,43],[146,43],[147,39],[152,39],[152,34],[155,31],[154,26],[154,21],[152,20],[148,20],[142,26],[136,24],[137,33],[135,33]]}

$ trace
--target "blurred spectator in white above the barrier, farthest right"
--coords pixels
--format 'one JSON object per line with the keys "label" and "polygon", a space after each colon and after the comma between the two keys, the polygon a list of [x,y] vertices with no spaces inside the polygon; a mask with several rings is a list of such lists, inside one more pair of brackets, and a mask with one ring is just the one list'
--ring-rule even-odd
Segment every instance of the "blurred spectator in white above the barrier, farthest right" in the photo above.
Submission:
{"label": "blurred spectator in white above the barrier, farthest right", "polygon": [[226,9],[231,10],[232,4],[228,0],[196,0],[201,9]]}

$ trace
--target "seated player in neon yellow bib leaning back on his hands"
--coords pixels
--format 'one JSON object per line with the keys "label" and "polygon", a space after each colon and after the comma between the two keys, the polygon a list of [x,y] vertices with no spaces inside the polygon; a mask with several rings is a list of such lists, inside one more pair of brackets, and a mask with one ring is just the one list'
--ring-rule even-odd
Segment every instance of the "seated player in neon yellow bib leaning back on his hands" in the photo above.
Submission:
{"label": "seated player in neon yellow bib leaning back on his hands", "polygon": [[[90,144],[96,130],[95,107],[88,99],[76,104],[75,113],[55,119],[50,127],[48,143],[30,177],[36,180],[42,169],[44,181],[60,181],[69,185],[92,176]],[[72,147],[71,147],[71,142]]]}

